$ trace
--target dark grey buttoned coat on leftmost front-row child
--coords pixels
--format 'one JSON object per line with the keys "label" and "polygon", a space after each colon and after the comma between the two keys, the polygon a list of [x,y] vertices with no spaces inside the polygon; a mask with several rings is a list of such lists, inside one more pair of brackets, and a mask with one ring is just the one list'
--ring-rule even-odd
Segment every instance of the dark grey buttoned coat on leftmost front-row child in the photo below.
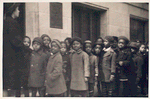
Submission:
{"label": "dark grey buttoned coat on leftmost front-row child", "polygon": [[45,83],[45,72],[47,66],[47,55],[42,51],[31,53],[29,87],[43,87]]}

